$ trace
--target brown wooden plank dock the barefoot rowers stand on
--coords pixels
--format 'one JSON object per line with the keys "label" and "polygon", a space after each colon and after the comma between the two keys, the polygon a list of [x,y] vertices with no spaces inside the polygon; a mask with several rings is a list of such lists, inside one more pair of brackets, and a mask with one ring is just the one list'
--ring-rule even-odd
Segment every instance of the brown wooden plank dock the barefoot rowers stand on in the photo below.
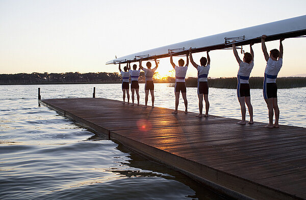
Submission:
{"label": "brown wooden plank dock the barefoot rowers stand on", "polygon": [[238,125],[105,98],[39,102],[234,198],[306,199],[306,128]]}

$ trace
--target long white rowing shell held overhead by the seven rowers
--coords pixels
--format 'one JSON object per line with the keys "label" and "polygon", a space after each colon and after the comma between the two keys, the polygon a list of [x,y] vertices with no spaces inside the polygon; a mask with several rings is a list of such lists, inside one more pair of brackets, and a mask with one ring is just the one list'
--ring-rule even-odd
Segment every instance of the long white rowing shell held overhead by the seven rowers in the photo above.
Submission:
{"label": "long white rowing shell held overhead by the seven rowers", "polygon": [[153,48],[110,60],[106,64],[165,58],[170,54],[184,55],[188,53],[189,48],[192,48],[192,53],[223,49],[231,47],[233,40],[236,41],[236,45],[260,43],[262,35],[267,35],[266,41],[304,36],[306,35],[306,15]]}

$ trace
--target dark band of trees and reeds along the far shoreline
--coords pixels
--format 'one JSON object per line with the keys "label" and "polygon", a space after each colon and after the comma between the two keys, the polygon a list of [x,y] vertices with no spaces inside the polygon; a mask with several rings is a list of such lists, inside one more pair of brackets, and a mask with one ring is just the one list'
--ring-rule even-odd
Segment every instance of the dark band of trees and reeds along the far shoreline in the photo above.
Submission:
{"label": "dark band of trees and reeds along the far shoreline", "polygon": [[[174,86],[175,78],[167,77],[155,79],[155,83],[172,83]],[[262,88],[263,77],[250,77],[250,88]],[[98,73],[16,73],[16,74],[0,74],[0,85],[14,84],[78,84],[78,83],[121,83],[121,74],[117,72],[98,72]],[[140,72],[140,83],[145,83],[144,72]],[[278,88],[297,88],[306,87],[306,77],[285,77],[276,79]],[[209,87],[214,88],[237,88],[237,78],[218,78],[208,79]],[[187,87],[197,87],[197,78],[189,77],[186,79]]]}

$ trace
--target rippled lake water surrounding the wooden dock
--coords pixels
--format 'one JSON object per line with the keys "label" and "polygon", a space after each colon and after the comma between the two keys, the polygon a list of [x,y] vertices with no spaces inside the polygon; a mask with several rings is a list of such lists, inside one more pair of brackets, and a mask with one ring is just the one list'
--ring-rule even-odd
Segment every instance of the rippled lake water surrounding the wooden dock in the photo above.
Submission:
{"label": "rippled lake water surrounding the wooden dock", "polygon": [[[144,104],[143,84],[140,103]],[[155,105],[174,108],[174,92],[156,84]],[[150,162],[37,103],[42,98],[122,101],[120,84],[0,86],[1,199],[222,199],[183,174]],[[306,127],[306,88],[280,89],[281,124]],[[197,112],[196,88],[188,88]],[[210,88],[210,114],[239,119],[236,90]],[[254,120],[267,122],[262,90],[251,90]],[[149,99],[150,105],[150,99]],[[183,99],[180,110],[184,110]]]}

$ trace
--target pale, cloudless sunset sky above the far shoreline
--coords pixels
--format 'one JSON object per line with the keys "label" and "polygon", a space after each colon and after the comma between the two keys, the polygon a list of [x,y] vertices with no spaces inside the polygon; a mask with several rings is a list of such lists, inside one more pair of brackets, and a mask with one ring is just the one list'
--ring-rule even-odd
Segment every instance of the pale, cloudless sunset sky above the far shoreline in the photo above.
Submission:
{"label": "pale, cloudless sunset sky above the far shoreline", "polygon": [[[305,15],[305,8],[305,0],[0,0],[0,74],[119,72],[118,65],[105,63],[115,56]],[[279,41],[266,45],[268,51],[279,48]],[[305,74],[306,38],[286,39],[283,45],[278,77]],[[249,46],[243,48],[249,52]],[[253,50],[251,77],[262,77],[266,61],[261,44]],[[202,56],[206,53],[193,54],[194,61],[199,64]],[[211,51],[210,57],[210,77],[237,76],[232,50]],[[157,72],[163,77],[171,70],[169,58],[161,59]],[[190,64],[187,77],[196,74]]]}

